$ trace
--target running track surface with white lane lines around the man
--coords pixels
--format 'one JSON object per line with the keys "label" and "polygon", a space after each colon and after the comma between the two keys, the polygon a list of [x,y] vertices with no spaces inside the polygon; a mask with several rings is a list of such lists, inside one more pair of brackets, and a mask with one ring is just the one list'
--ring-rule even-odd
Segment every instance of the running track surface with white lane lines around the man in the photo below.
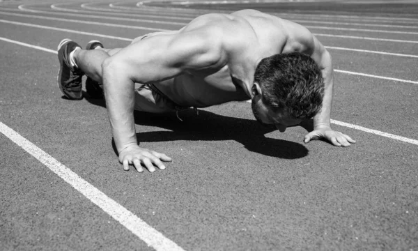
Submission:
{"label": "running track surface with white lane lines around the man", "polygon": [[[0,250],[418,250],[418,4],[318,2],[0,1]],[[357,144],[303,144],[248,102],[138,113],[141,146],[173,162],[123,172],[103,103],[61,98],[56,45],[240,8],[327,46],[333,126]]]}

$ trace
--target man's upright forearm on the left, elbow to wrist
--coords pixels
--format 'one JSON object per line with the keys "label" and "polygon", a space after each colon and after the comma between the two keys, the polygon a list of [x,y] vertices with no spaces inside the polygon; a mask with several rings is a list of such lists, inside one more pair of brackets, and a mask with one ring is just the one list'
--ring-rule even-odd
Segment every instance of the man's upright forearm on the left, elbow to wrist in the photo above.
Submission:
{"label": "man's upright forearm on the left, elbow to wrist", "polygon": [[137,144],[133,114],[134,82],[117,63],[107,62],[103,66],[103,86],[111,132],[120,153],[127,146]]}

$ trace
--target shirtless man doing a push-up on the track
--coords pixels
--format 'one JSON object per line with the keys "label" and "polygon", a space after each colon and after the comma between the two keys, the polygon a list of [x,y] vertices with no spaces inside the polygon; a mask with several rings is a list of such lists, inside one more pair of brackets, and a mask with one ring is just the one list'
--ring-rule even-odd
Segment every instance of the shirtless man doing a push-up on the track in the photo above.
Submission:
{"label": "shirtless man doing a push-up on the track", "polygon": [[[330,127],[332,60],[323,45],[300,24],[257,10],[196,17],[179,31],[150,33],[122,49],[98,41],[87,50],[68,39],[59,45],[58,82],[70,99],[86,89],[104,98],[119,161],[143,172],[165,169],[167,155],[138,146],[134,109],[170,112],[251,98],[256,119],[281,132],[304,119],[334,146],[353,139]],[[98,50],[91,50],[98,49]],[[98,91],[98,92],[97,92]]]}

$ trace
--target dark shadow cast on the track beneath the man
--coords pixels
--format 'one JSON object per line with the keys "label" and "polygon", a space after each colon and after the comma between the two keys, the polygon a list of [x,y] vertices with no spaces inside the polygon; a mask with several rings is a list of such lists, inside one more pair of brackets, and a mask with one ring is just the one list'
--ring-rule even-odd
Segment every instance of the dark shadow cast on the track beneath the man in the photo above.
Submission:
{"label": "dark shadow cast on the track beneath the man", "polygon": [[[105,107],[103,100],[86,98],[93,105]],[[170,142],[175,140],[235,140],[249,151],[277,158],[295,159],[308,155],[308,149],[302,144],[283,139],[272,139],[264,135],[272,132],[272,128],[261,126],[255,119],[239,119],[222,116],[212,112],[193,109],[179,112],[180,121],[175,112],[151,114],[134,112],[135,123],[141,126],[160,127],[170,131],[138,132],[138,142]],[[312,123],[302,125],[308,131]],[[116,150],[116,149],[115,149]]]}

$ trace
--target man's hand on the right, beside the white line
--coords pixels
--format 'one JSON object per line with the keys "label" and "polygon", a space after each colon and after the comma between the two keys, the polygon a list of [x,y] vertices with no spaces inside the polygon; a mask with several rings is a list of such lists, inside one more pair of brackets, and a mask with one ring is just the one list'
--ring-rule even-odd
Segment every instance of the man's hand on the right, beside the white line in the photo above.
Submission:
{"label": "man's hand on the right, beside the white line", "polygon": [[311,140],[316,139],[327,139],[334,146],[350,146],[350,144],[355,144],[355,140],[350,138],[350,136],[343,134],[342,132],[336,132],[330,127],[326,128],[317,128],[312,132],[309,132],[304,137],[304,142],[308,143]]}

